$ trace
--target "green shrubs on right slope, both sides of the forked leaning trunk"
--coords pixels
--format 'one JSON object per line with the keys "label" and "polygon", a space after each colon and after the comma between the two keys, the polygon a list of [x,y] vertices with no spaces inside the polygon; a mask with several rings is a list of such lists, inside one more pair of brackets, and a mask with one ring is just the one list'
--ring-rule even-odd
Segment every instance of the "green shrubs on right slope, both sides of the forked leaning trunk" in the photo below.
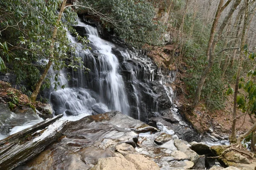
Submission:
{"label": "green shrubs on right slope, both sides of the forked leaning trunk", "polygon": [[[186,70],[186,73],[189,75],[183,80],[189,99],[195,97],[199,79],[205,65],[207,65],[206,49],[210,29],[211,25],[204,25],[200,13],[194,19],[192,14],[186,14],[183,26],[184,44],[182,50],[186,65],[189,66]],[[216,51],[220,51],[222,46],[222,42],[218,43]],[[225,82],[221,80],[221,69],[218,67],[218,63],[215,62],[201,92],[201,100],[205,102],[207,109],[216,110],[224,107],[226,100],[224,90]]]}

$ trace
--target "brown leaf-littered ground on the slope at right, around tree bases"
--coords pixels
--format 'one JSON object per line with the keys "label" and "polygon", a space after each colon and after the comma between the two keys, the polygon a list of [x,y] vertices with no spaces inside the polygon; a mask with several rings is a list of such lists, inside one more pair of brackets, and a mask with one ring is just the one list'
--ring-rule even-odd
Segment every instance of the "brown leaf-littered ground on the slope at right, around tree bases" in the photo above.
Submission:
{"label": "brown leaf-littered ground on the slope at right, around tree bases", "polygon": [[[184,87],[184,83],[179,81],[178,76],[179,75],[177,75],[174,84],[177,91],[176,102],[178,106],[181,106],[182,104],[189,104],[189,99],[185,97],[186,91],[184,91],[184,89],[186,88]],[[194,116],[187,116],[200,133],[207,133],[213,130],[220,135],[230,135],[233,121],[233,95],[227,96],[224,108],[221,110],[209,111],[206,109],[204,102],[201,102],[198,107],[195,108]],[[252,119],[256,121],[255,116],[252,116]],[[236,134],[239,135],[246,132],[252,125],[253,122],[251,121],[250,116],[242,113],[238,109]]]}

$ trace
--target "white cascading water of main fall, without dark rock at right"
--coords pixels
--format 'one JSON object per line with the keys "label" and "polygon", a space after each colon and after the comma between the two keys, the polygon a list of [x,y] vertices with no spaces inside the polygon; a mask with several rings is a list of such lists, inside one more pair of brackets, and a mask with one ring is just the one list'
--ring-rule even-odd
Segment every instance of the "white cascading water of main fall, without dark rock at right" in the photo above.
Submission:
{"label": "white cascading water of main fall, without dark rock at right", "polygon": [[84,45],[77,43],[75,38],[69,35],[71,42],[76,44],[74,55],[81,57],[90,72],[84,74],[82,70],[72,71],[73,78],[69,85],[51,93],[50,102],[55,114],[86,116],[95,112],[117,110],[129,115],[130,106],[124,81],[119,74],[119,61],[111,52],[113,44],[102,40],[96,28],[80,21],[77,26],[86,30],[92,50],[84,49]]}

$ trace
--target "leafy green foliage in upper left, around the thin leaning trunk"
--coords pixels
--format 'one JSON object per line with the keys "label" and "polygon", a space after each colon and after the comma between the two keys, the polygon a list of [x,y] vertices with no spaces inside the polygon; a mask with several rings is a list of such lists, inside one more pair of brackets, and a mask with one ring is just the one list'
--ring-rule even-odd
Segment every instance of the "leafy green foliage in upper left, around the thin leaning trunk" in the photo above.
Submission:
{"label": "leafy green foliage in upper left, around the thin leaning trunk", "polygon": [[[58,28],[51,58],[54,69],[82,67],[81,58],[68,55],[75,47],[70,46],[67,33],[74,31],[71,24],[76,22],[77,15],[70,7],[65,8],[65,20],[57,23],[61,3],[62,0],[0,0],[0,71],[8,64],[17,75],[16,83],[26,81],[31,88],[26,89],[27,94],[31,94],[29,90],[33,90],[49,61],[54,27]],[[47,87],[47,83],[42,86]]]}

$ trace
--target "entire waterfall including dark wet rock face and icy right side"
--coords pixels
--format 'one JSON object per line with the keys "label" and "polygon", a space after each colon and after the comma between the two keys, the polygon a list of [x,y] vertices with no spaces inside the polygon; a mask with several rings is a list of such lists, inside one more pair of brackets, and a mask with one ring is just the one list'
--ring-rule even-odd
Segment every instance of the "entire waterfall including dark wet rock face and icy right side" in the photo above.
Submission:
{"label": "entire waterfall including dark wet rock face and icy right side", "polygon": [[[71,45],[76,48],[72,55],[80,57],[90,71],[60,71],[58,81],[66,85],[64,89],[60,85],[57,91],[51,89],[50,103],[55,115],[63,113],[67,119],[76,120],[91,114],[120,111],[146,121],[158,114],[158,110],[172,106],[172,89],[166,83],[173,77],[165,73],[166,77],[145,51],[103,40],[95,27],[79,19],[74,28],[80,36],[87,37],[90,49],[68,34]],[[51,74],[54,77],[53,70]]]}

